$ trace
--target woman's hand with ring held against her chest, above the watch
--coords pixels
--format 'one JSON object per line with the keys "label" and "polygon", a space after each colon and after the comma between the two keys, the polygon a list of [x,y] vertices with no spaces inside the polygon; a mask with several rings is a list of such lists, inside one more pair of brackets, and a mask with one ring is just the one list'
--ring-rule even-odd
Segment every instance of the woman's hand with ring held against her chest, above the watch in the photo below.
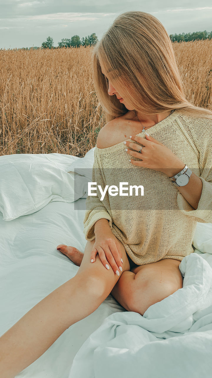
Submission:
{"label": "woman's hand with ring held against her chest, above the watch", "polygon": [[[142,149],[139,144],[126,141],[126,148],[129,147],[127,153],[135,158],[141,159],[141,161],[131,159],[133,165],[159,170],[169,177],[176,175],[185,167],[183,161],[169,148],[152,138],[152,136],[145,135],[146,139],[138,135],[131,136],[132,140],[144,146]],[[141,153],[132,151],[130,148],[137,151],[141,149]]]}

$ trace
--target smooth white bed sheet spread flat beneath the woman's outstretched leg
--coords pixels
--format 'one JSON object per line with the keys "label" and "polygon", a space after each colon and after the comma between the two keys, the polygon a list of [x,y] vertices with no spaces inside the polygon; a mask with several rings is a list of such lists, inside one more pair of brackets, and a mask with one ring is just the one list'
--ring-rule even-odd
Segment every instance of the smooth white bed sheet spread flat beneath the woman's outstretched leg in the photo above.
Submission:
{"label": "smooth white bed sheet spread flat beneath the woman's outstretched leg", "polygon": [[[84,210],[74,209],[80,201],[84,206],[84,198],[73,203],[55,201],[10,222],[5,222],[0,212],[0,335],[77,273],[78,266],[56,247],[64,243],[84,252]],[[109,295],[94,313],[71,325],[17,377],[68,378],[83,342],[117,311],[125,310]]]}

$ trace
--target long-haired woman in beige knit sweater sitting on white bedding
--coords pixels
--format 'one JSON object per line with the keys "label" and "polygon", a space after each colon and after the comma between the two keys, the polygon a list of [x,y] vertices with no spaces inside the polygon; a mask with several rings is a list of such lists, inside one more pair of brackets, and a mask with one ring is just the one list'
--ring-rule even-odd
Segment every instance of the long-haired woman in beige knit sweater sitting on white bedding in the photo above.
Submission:
{"label": "long-haired woman in beige knit sweater sitting on white bedding", "polygon": [[212,222],[212,112],[186,100],[159,20],[138,11],[118,16],[94,47],[93,79],[107,124],[98,134],[92,181],[102,189],[142,185],[144,195],[88,196],[84,254],[58,246],[79,270],[2,336],[4,378],[35,361],[110,293],[143,315],[181,288],[179,264],[193,252],[196,224]]}

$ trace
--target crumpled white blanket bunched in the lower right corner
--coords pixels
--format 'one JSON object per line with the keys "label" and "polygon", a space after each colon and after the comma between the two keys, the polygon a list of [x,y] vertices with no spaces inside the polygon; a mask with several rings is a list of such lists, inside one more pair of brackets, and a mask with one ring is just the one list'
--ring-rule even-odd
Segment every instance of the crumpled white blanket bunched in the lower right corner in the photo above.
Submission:
{"label": "crumpled white blanket bunched in the lower right corner", "polygon": [[194,253],[180,271],[183,288],[143,316],[126,311],[105,319],[75,356],[69,378],[209,378],[212,268]]}

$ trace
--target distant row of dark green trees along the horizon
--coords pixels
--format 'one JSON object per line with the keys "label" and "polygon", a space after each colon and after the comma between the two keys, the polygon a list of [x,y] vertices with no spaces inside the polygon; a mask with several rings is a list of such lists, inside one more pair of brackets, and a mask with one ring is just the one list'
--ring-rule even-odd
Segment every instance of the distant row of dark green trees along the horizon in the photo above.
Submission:
{"label": "distant row of dark green trees along the horizon", "polygon": [[[204,31],[195,31],[194,33],[182,33],[182,34],[170,34],[170,39],[172,42],[188,42],[194,41],[197,39],[212,39],[212,31],[208,32]],[[86,36],[80,39],[80,36],[72,36],[71,39],[63,38],[61,41],[58,42],[58,46],[54,46],[54,40],[52,37],[47,37],[47,39],[41,43],[41,46],[32,46],[32,47],[22,47],[18,50],[30,50],[30,49],[38,49],[38,48],[62,48],[62,47],[79,47],[79,46],[92,46],[97,43],[98,38],[95,33],[92,33],[90,36]]]}

